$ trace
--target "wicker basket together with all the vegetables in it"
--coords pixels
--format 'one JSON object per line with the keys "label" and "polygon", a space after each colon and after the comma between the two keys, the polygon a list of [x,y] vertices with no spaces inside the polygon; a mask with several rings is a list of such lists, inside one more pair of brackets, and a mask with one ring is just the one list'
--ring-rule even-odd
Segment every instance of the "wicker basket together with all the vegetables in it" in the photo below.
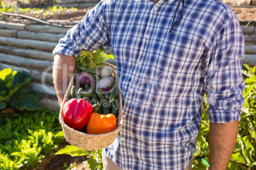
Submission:
{"label": "wicker basket together with all the vegetables in it", "polygon": [[76,60],[59,121],[66,140],[84,150],[106,148],[123,126],[116,68],[103,49],[83,51]]}

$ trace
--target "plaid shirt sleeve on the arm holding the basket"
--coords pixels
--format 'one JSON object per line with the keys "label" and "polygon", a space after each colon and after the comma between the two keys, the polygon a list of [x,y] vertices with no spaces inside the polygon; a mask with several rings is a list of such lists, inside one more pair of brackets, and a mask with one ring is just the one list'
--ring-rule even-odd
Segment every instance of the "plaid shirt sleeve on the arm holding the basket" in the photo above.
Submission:
{"label": "plaid shirt sleeve on the arm holding the basket", "polygon": [[104,22],[104,6],[105,1],[101,1],[87,12],[83,20],[68,30],[53,50],[53,55],[60,53],[77,57],[82,50],[92,51],[99,46],[108,49],[110,39]]}

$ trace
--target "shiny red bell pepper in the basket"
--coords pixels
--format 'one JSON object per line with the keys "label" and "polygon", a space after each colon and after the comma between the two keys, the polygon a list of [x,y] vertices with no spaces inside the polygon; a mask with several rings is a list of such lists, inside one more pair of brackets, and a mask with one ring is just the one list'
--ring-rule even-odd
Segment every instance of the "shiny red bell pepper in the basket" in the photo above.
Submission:
{"label": "shiny red bell pepper in the basket", "polygon": [[85,99],[73,98],[63,107],[64,122],[77,131],[81,131],[88,123],[94,107]]}

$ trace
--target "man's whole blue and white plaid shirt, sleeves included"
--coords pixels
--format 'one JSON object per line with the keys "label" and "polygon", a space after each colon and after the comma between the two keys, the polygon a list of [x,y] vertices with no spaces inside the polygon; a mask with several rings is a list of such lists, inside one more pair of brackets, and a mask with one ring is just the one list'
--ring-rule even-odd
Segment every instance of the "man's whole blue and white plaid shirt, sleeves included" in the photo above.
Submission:
{"label": "man's whole blue and white plaid shirt, sleeves included", "polygon": [[[106,154],[122,169],[185,169],[208,96],[209,119],[240,119],[244,39],[233,11],[218,0],[103,0],[70,29],[53,53],[112,48],[124,100],[124,127]],[[180,8],[174,22],[181,17]]]}

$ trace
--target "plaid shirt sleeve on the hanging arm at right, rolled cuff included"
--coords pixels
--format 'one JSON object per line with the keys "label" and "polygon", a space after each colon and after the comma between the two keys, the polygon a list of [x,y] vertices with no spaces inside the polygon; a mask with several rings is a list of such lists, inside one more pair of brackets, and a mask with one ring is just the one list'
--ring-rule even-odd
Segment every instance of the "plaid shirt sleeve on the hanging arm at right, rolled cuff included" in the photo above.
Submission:
{"label": "plaid shirt sleeve on the hanging arm at right, rolled cuff included", "polygon": [[208,97],[210,122],[240,121],[245,103],[241,57],[245,54],[243,32],[231,18],[217,33],[204,58],[204,91]]}

